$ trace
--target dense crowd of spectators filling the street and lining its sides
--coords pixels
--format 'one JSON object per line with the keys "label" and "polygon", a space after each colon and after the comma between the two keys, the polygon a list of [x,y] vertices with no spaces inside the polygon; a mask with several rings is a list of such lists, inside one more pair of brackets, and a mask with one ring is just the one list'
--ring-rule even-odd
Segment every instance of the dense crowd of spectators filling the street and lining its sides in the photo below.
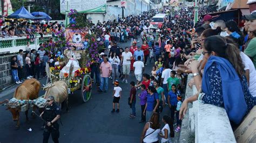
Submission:
{"label": "dense crowd of spectators filling the street and lining its sides", "polygon": [[[90,31],[105,47],[97,55],[100,60],[90,65],[91,78],[99,86],[98,91],[107,92],[111,79],[114,84],[111,112],[120,112],[122,88],[119,85],[130,83],[128,104],[132,112],[129,118],[138,116],[136,100],[139,98],[139,122],[146,122],[141,137],[144,142],[158,142],[158,137],[161,142],[171,142],[174,131],[180,131],[187,104],[196,100],[225,108],[235,128],[256,102],[256,12],[244,17],[245,26],[241,32],[234,20],[217,20],[210,24],[213,22],[210,15],[194,24],[193,9],[183,8],[173,11],[172,15],[168,13],[166,22],[154,33],[149,28],[151,17],[166,11],[151,10],[138,16],[92,24]],[[199,15],[202,14],[203,10],[199,9]],[[31,27],[29,23],[24,25]],[[58,24],[50,25],[55,28]],[[21,28],[25,31],[25,27]],[[57,28],[62,26],[59,24]],[[26,31],[26,34],[31,33]],[[117,45],[128,40],[131,43],[127,47]],[[142,45],[138,45],[140,40]],[[44,76],[45,64],[51,60],[43,44],[35,52],[31,50],[25,54],[25,68],[29,71],[26,78],[37,75],[40,79],[40,71]],[[22,80],[22,54],[23,51],[19,51],[17,61],[14,56],[11,63],[17,84]],[[145,71],[149,65],[153,65],[152,70]],[[187,74],[193,75],[188,85],[196,85],[199,92],[184,99]],[[129,80],[131,76],[136,81]],[[160,130],[159,115],[163,108],[170,108],[170,115],[163,116],[164,127]]]}

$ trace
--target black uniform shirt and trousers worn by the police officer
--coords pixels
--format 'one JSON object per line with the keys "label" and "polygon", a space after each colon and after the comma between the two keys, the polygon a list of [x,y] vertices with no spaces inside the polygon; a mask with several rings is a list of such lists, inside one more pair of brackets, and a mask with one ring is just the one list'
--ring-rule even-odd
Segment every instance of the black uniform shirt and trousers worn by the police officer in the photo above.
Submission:
{"label": "black uniform shirt and trousers worn by the police officer", "polygon": [[[45,121],[52,121],[57,115],[60,115],[60,108],[56,103],[53,103],[52,106],[48,105],[46,106],[44,113],[43,113],[43,119]],[[57,123],[57,121],[55,121],[55,123],[52,124],[53,127],[49,127],[47,125],[45,125],[44,128],[44,139],[43,139],[43,143],[47,143],[51,134],[52,140],[57,143],[58,138],[59,138],[59,124]]]}

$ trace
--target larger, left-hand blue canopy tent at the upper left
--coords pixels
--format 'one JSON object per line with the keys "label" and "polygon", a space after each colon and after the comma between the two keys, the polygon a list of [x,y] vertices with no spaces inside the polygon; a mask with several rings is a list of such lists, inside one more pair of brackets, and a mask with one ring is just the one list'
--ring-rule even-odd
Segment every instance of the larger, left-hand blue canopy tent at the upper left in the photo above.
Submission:
{"label": "larger, left-hand blue canopy tent at the upper left", "polygon": [[8,18],[40,19],[40,17],[32,16],[31,13],[24,8],[24,6],[8,16]]}

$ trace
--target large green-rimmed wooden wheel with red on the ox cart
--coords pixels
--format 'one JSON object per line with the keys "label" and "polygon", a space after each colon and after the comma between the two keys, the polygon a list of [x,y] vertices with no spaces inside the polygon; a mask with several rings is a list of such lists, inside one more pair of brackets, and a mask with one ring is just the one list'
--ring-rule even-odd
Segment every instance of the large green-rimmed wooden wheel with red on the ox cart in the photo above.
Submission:
{"label": "large green-rimmed wooden wheel with red on the ox cart", "polygon": [[89,75],[85,75],[81,86],[81,94],[84,102],[89,101],[91,97],[92,80]]}

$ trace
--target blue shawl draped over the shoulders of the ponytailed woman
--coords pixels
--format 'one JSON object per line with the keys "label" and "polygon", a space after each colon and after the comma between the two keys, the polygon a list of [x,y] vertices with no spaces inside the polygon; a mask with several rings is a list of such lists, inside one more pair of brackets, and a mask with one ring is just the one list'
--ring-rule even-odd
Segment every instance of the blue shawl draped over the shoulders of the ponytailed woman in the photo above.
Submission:
{"label": "blue shawl draped over the shoulders of the ponytailed woman", "polygon": [[220,71],[224,108],[227,112],[228,118],[235,124],[239,124],[246,114],[247,104],[245,102],[244,92],[240,78],[231,65],[231,63],[218,56],[211,56],[204,68],[204,75],[202,79],[202,91],[205,94],[211,95],[211,87],[209,84],[210,76],[208,69],[215,63]]}

